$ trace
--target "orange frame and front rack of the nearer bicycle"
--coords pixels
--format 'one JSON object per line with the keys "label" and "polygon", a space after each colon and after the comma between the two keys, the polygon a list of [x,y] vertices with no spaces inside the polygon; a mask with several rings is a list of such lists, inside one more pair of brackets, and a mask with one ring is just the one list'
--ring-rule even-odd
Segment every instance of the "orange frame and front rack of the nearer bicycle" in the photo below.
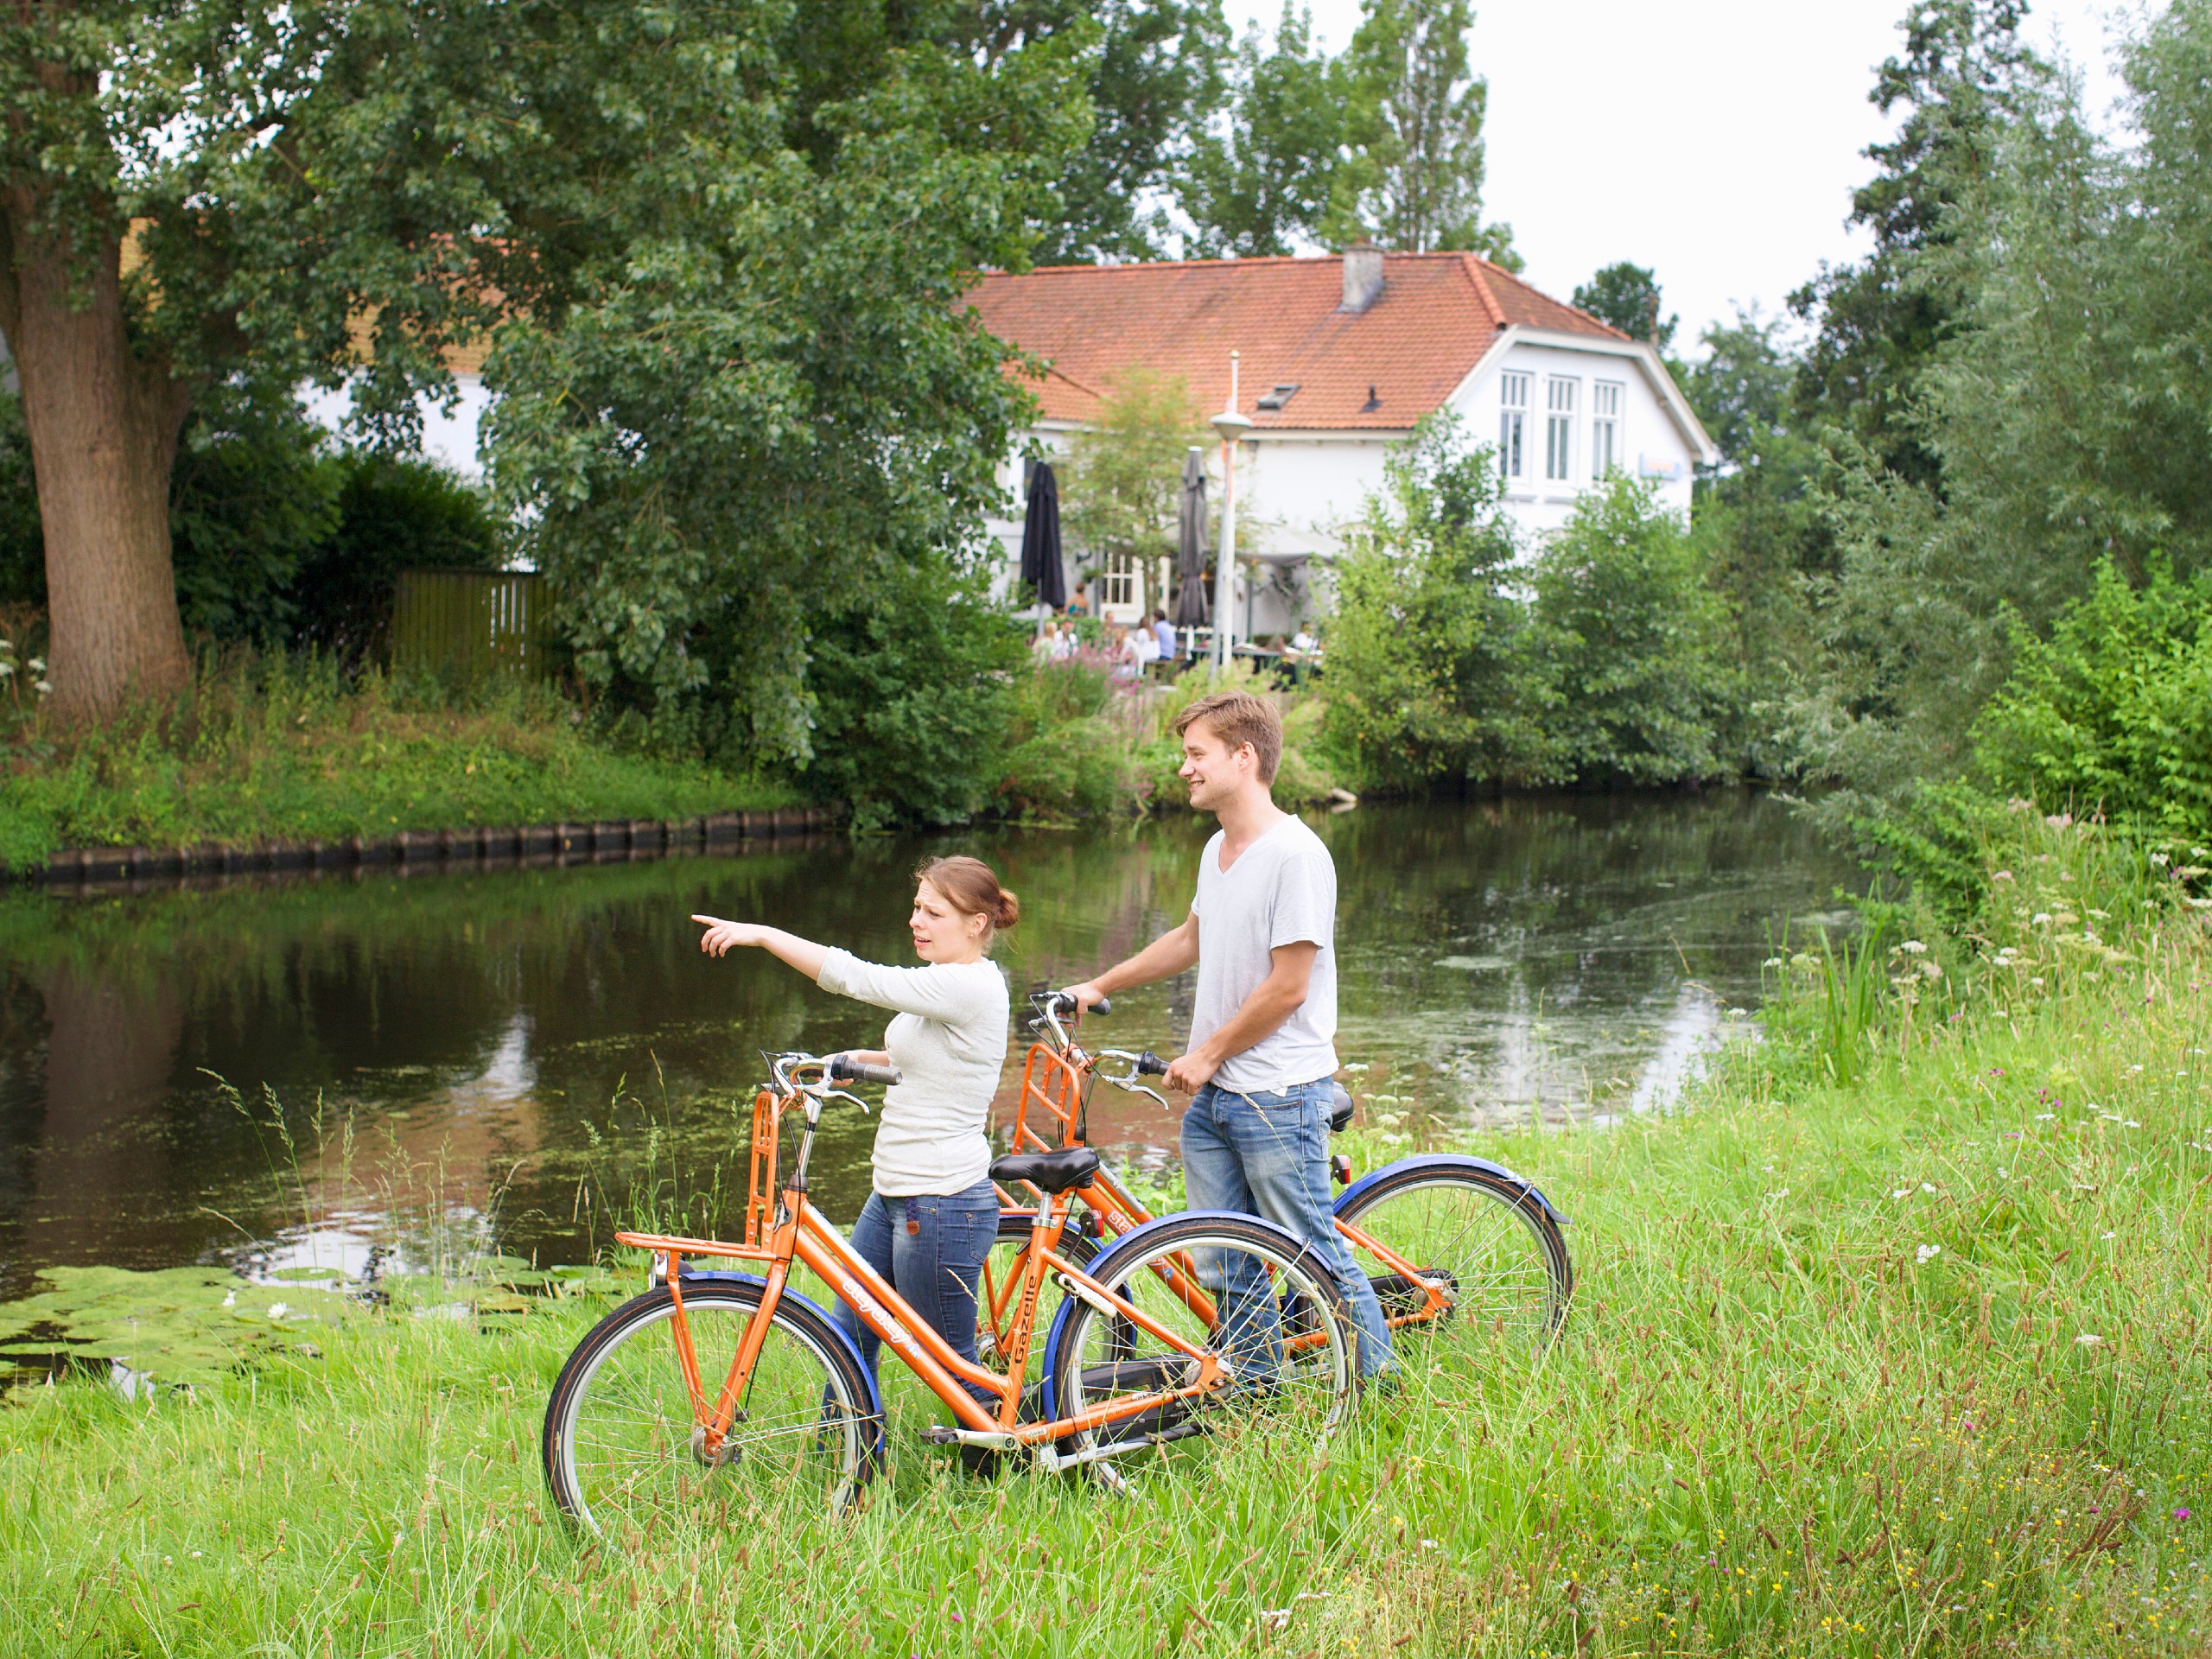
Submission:
{"label": "orange frame and front rack of the nearer bicycle", "polygon": [[[763,1170],[770,1179],[774,1177],[779,1139],[776,1128],[783,1113],[801,1106],[801,1102],[805,1102],[807,1124],[805,1135],[801,1137],[799,1161],[792,1181],[783,1186],[774,1214],[770,1217],[761,1192],[761,1177]],[[1066,1228],[1068,1206],[1066,1201],[1055,1201],[1053,1197],[1046,1197],[1044,1206],[1037,1210],[1031,1230],[1033,1248],[1024,1252],[1026,1265],[1020,1281],[1018,1323],[1006,1345],[1006,1374],[1000,1376],[960,1358],[938,1332],[933,1332],[905,1301],[900,1301],[898,1292],[887,1285],[874,1267],[854,1254],[852,1243],[836,1228],[832,1228],[812,1203],[807,1203],[805,1166],[818,1113],[821,1097],[803,1086],[781,1097],[763,1088],[754,1097],[754,1183],[748,1194],[748,1237],[743,1243],[726,1243],[719,1239],[677,1239],[650,1232],[615,1234],[617,1243],[630,1245],[633,1250],[650,1250],[661,1259],[668,1292],[675,1301],[670,1329],[675,1334],[677,1365],[684,1374],[684,1387],[690,1394],[692,1422],[703,1429],[703,1455],[712,1458],[719,1451],[721,1442],[730,1433],[730,1425],[737,1420],[739,1405],[743,1402],[745,1389],[752,1380],[752,1367],[761,1356],[770,1318],[776,1312],[776,1303],[783,1298],[794,1261],[821,1274],[821,1279],[830,1283],[860,1316],[860,1323],[876,1332],[876,1336],[883,1338],[894,1354],[898,1354],[907,1369],[914,1371],[931,1394],[945,1400],[947,1407],[951,1407],[953,1416],[964,1427],[951,1431],[949,1438],[962,1444],[993,1447],[1002,1451],[1035,1449],[1040,1458],[1051,1460],[1055,1467],[1088,1462],[1117,1451],[1119,1447],[1091,1447],[1088,1451],[1062,1455],[1051,1449],[1051,1442],[1086,1429],[1099,1429],[1124,1418],[1144,1416],[1146,1411],[1155,1411],[1177,1400],[1194,1400],[1228,1385],[1230,1371],[1217,1354],[1186,1343],[1181,1336],[1144,1314],[1144,1310],[1133,1307],[1126,1298],[1060,1256],[1057,1245],[1060,1234]],[[763,1221],[768,1223],[765,1239],[761,1237]],[[699,1369],[690,1318],[684,1312],[684,1256],[752,1261],[763,1267],[765,1290],[761,1294],[761,1305],[745,1323],[737,1354],[730,1358],[730,1371],[721,1378],[721,1387],[712,1400],[708,1398],[708,1378],[701,1376]],[[1022,1383],[1029,1369],[1037,1292],[1044,1285],[1046,1272],[1060,1274],[1068,1296],[1077,1296],[1102,1312],[1128,1318],[1139,1329],[1192,1360],[1197,1367],[1194,1374],[1179,1389],[1133,1394],[1128,1398],[1113,1400],[1110,1405],[1099,1405],[1053,1422],[1020,1422]],[[973,1385],[995,1396],[995,1416],[987,1411],[962,1385]]]}

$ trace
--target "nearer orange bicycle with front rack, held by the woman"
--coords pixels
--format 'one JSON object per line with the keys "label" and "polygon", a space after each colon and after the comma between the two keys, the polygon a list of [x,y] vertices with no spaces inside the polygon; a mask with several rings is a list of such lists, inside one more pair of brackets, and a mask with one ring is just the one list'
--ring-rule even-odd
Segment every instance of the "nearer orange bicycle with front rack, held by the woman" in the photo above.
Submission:
{"label": "nearer orange bicycle with front rack, held by the woman", "polygon": [[[1181,1214],[1133,1228],[1110,1250],[1062,1250],[1068,1192],[1095,1181],[1097,1152],[1013,1152],[991,1177],[1040,1194],[1024,1265],[1009,1285],[991,1365],[971,1365],[922,1323],[807,1201],[825,1102],[865,1102],[841,1082],[889,1084],[889,1068],[768,1055],[752,1104],[745,1239],[615,1234],[659,1256],[661,1283],[577,1343],[546,1402],[544,1469],[584,1531],[648,1537],[668,1522],[757,1513],[803,1498],[852,1506],[885,1460],[885,1416],[860,1349],[792,1287],[818,1274],[953,1413],[925,1440],[1040,1469],[1106,1460],[1239,1420],[1305,1449],[1327,1440],[1358,1391],[1336,1281],[1305,1245],[1256,1217]],[[803,1117],[790,1179],[779,1135]],[[781,1181],[781,1186],[779,1186]],[[686,1259],[748,1263],[692,1270]],[[1206,1312],[1177,1285],[1197,1287]],[[1239,1294],[1263,1285],[1272,1294]],[[1035,1385],[1029,1356],[1053,1301]],[[1214,1303],[1230,1310],[1214,1316]]]}

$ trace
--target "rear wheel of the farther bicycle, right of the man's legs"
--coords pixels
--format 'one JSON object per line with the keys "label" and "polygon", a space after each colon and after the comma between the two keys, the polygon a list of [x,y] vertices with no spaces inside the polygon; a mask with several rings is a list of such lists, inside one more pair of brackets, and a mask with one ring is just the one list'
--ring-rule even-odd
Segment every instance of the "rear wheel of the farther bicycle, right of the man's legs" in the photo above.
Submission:
{"label": "rear wheel of the farther bicycle, right of the man's legs", "polygon": [[1473,1365],[1535,1354],[1566,1321],[1575,1292],[1566,1237],[1511,1170],[1407,1159],[1347,1194],[1336,1221],[1402,1358]]}

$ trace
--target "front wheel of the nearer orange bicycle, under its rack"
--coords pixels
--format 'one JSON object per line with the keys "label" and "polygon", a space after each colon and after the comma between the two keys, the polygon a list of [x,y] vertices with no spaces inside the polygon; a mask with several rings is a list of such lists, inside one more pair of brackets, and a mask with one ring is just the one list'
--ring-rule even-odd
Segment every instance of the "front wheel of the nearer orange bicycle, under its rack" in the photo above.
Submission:
{"label": "front wheel of the nearer orange bicycle, under its rack", "polygon": [[[684,1316],[708,1409],[761,1310],[748,1283],[686,1285]],[[801,1504],[852,1506],[883,1444],[858,1360],[812,1307],[783,1298],[728,1438],[710,1455],[677,1360],[675,1296],[659,1287],[577,1343],[546,1402],[553,1502],[586,1533],[635,1546],[670,1528],[757,1522]]]}

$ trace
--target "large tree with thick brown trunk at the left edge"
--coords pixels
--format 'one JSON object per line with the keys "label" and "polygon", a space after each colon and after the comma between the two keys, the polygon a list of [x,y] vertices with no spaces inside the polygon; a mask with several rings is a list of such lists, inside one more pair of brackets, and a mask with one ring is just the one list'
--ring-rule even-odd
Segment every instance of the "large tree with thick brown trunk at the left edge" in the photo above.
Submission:
{"label": "large tree with thick brown trunk at the left edge", "polygon": [[248,358],[352,376],[361,427],[411,438],[416,394],[451,389],[447,345],[562,310],[593,195],[670,139],[657,117],[750,108],[757,20],[708,0],[7,7],[0,330],[58,710],[186,675],[168,480],[208,387]]}

